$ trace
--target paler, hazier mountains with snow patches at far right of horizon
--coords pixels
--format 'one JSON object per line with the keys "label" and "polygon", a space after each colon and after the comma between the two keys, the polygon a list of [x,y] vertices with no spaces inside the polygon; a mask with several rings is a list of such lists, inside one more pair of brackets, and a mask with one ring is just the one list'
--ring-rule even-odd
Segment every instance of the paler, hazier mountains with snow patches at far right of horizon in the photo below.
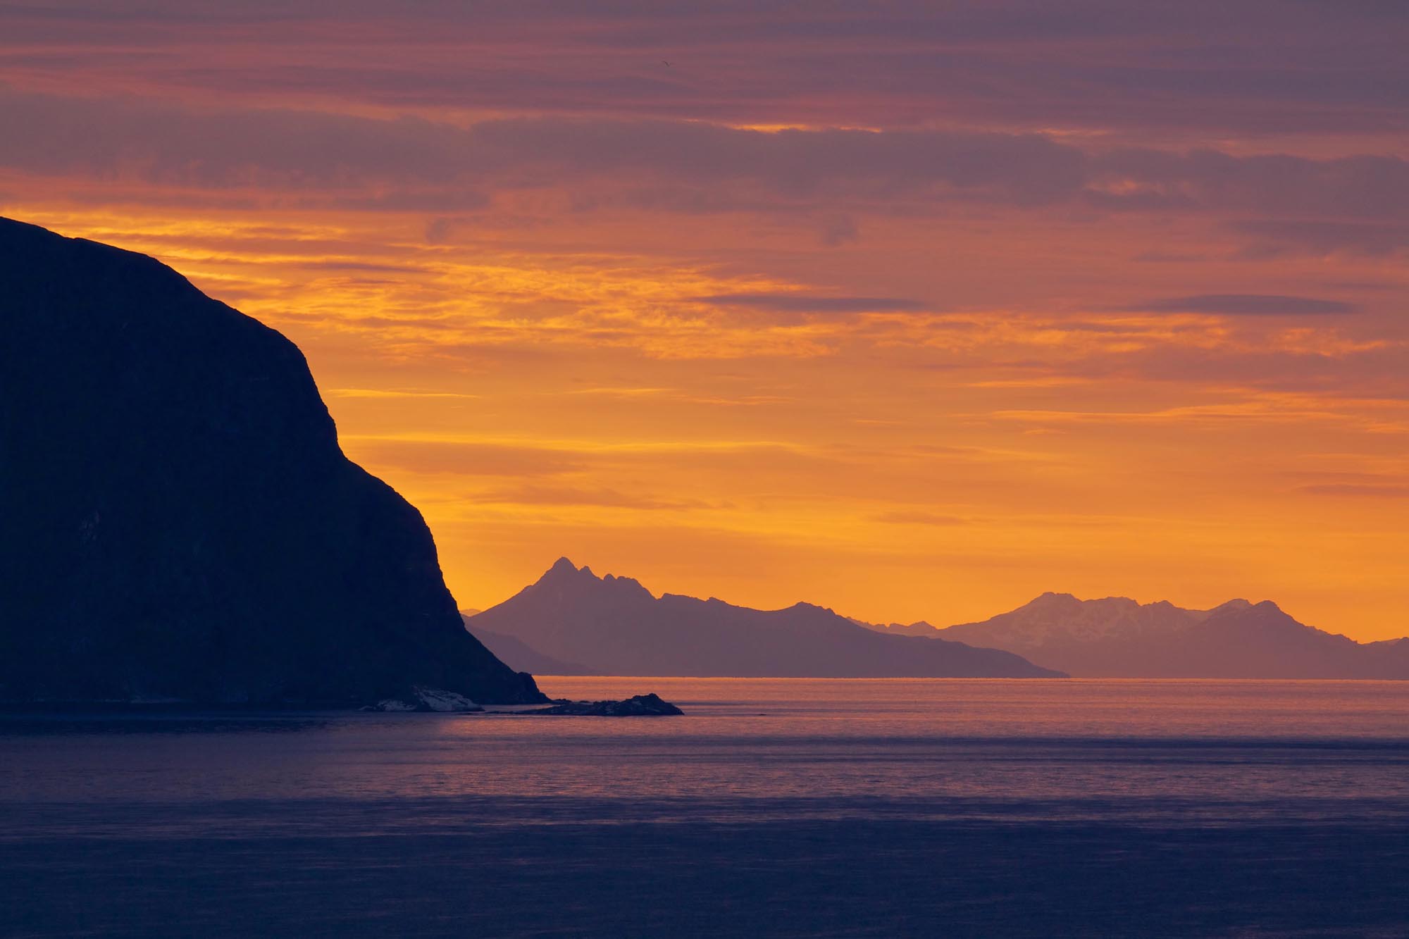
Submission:
{"label": "paler, hazier mountains with snow patches at far right of horizon", "polygon": [[867,626],[1005,649],[1082,678],[1409,678],[1409,639],[1357,643],[1305,626],[1271,601],[1182,609],[1043,594],[981,623]]}

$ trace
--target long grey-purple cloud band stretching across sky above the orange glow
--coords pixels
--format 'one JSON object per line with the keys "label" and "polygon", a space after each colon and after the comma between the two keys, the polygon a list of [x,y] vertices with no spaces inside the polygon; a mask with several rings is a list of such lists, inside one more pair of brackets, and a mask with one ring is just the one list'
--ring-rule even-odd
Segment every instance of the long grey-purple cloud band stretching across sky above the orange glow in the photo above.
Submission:
{"label": "long grey-purple cloud band stretching across sky above the orange glow", "polygon": [[[960,202],[1037,209],[1264,213],[1402,224],[1409,162],[1195,151],[1086,151],[1041,134],[783,130],[565,118],[469,127],[285,110],[0,92],[0,166],[49,176],[258,189],[348,209],[455,211],[495,192],[565,189],[579,206],[913,214]],[[648,190],[643,189],[650,186]],[[707,203],[700,203],[707,193]],[[845,240],[843,226],[831,235]]]}

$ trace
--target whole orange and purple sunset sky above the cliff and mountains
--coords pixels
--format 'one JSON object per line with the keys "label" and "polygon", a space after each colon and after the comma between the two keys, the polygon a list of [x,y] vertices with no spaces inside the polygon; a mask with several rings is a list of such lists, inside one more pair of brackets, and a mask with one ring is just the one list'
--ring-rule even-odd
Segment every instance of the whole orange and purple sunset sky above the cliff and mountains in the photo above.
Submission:
{"label": "whole orange and purple sunset sky above the cliff and mountains", "polygon": [[1385,639],[1406,49],[1403,0],[4,4],[0,214],[294,340],[465,608],[565,554]]}

